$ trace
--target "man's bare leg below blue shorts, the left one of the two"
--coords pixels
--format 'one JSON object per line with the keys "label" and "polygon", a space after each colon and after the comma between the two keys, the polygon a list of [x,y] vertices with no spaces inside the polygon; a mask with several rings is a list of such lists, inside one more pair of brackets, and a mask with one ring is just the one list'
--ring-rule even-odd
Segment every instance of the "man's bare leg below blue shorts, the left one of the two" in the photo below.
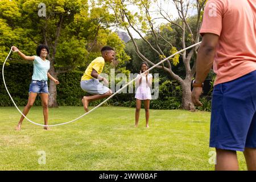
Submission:
{"label": "man's bare leg below blue shorts, the left one of the two", "polygon": [[232,150],[222,150],[216,148],[217,164],[215,165],[216,171],[238,171],[237,152]]}

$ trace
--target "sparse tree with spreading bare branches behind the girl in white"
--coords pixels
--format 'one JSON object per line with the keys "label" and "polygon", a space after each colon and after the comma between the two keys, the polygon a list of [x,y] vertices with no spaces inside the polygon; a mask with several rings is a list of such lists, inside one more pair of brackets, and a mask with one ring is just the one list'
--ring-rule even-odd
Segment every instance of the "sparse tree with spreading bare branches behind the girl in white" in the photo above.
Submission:
{"label": "sparse tree with spreading bare branches behind the girl in white", "polygon": [[[205,0],[197,0],[196,3],[192,3],[192,1],[189,0],[102,0],[100,2],[105,3],[105,6],[108,6],[114,11],[118,26],[122,27],[128,32],[138,56],[151,65],[155,65],[156,62],[152,60],[152,57],[147,57],[142,53],[142,50],[139,49],[137,42],[131,34],[131,29],[137,32],[139,36],[141,36],[142,40],[151,48],[151,51],[158,55],[157,62],[174,53],[176,51],[175,49],[179,49],[178,47],[174,46],[177,45],[175,43],[178,42],[181,48],[185,48],[191,44],[198,43],[200,40],[199,30],[201,26],[201,12],[203,11]],[[163,2],[174,3],[179,15],[179,21],[172,19],[171,14],[164,10]],[[151,8],[152,3],[156,4],[156,6],[154,6],[154,10]],[[131,12],[131,5],[138,8],[137,13],[133,14]],[[196,7],[197,10],[197,15],[195,16],[195,28],[192,28],[189,23],[189,10],[191,10],[192,7]],[[152,14],[155,14],[156,11],[158,12],[159,17],[152,18]],[[164,27],[155,27],[155,22],[158,19],[164,19],[169,22],[169,24],[166,24]],[[164,38],[164,36],[161,34],[163,31],[160,30],[161,28],[168,28],[170,31],[173,31],[174,27],[176,30],[178,30],[180,36],[177,37],[178,40],[176,42],[171,42],[170,40]],[[147,36],[144,36],[144,34]],[[164,43],[164,47],[170,47],[169,51],[164,51],[162,43]],[[180,54],[185,68],[185,78],[181,78],[172,69],[176,64],[179,63],[179,57],[166,61],[166,63],[157,67],[166,71],[172,78],[179,82],[183,90],[183,109],[187,110],[195,110],[195,106],[191,101],[191,81],[192,77],[195,75],[196,62],[194,61],[194,63],[191,65],[191,60],[193,56],[196,56],[197,48],[198,47],[194,47],[191,50],[184,51]]]}

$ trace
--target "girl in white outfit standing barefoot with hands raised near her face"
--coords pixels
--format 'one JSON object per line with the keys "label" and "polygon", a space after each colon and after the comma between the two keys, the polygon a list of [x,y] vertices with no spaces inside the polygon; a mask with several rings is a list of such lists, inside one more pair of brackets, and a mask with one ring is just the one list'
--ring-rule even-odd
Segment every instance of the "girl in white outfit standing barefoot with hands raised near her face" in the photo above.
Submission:
{"label": "girl in white outfit standing barefoot with hands raised near her face", "polygon": [[[146,72],[148,69],[147,63],[141,64],[141,72],[136,80],[136,111],[135,111],[135,127],[138,127],[139,124],[139,111],[141,110],[141,102],[144,101],[144,107],[146,111],[146,127],[148,126],[149,119],[149,107],[151,100],[151,85],[152,85],[152,75]],[[143,72],[146,72],[144,75],[141,75]]]}

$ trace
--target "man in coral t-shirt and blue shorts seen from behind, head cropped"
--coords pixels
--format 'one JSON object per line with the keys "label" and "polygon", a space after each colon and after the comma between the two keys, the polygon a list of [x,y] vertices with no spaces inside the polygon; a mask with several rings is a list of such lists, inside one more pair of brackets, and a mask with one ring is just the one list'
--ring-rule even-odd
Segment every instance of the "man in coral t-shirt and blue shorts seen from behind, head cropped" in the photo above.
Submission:
{"label": "man in coral t-shirt and blue shorts seen from behind, head cropped", "polygon": [[192,101],[213,66],[217,75],[212,98],[210,147],[216,170],[238,170],[236,151],[256,170],[256,0],[209,0],[200,30]]}

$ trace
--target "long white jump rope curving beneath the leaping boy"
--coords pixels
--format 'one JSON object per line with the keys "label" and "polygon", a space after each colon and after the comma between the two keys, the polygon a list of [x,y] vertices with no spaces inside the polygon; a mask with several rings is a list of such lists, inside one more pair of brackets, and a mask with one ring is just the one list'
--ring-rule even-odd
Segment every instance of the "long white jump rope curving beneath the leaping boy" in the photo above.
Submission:
{"label": "long white jump rope curving beneath the leaping boy", "polygon": [[[156,66],[162,64],[164,61],[167,61],[167,60],[170,59],[171,57],[174,57],[174,56],[177,55],[178,53],[181,53],[181,52],[183,52],[183,51],[185,51],[185,50],[187,50],[187,49],[190,49],[190,48],[192,48],[192,47],[199,46],[199,44],[201,44],[201,42],[196,43],[196,44],[193,44],[192,46],[189,46],[189,47],[187,47],[187,48],[182,49],[182,50],[179,51],[179,52],[174,53],[173,55],[171,55],[171,56],[167,57],[166,59],[160,61],[158,64],[155,64],[153,67],[151,67],[150,69],[148,69],[147,72],[151,71],[151,69],[154,69]],[[11,50],[10,50],[9,54],[8,54],[8,56],[6,57],[5,62],[3,63],[3,68],[2,68],[3,84],[5,84],[5,75],[3,74],[3,70],[4,70],[4,68],[5,68],[5,63],[6,63],[8,57],[10,56],[10,54],[11,54],[12,51],[13,51],[13,47],[11,47]],[[141,75],[144,75],[144,73],[146,73],[146,72],[143,72]],[[138,78],[138,77],[137,77],[137,78]],[[28,119],[28,118],[26,117],[26,115],[24,115],[24,114],[22,113],[22,111],[20,111],[19,108],[16,106],[16,104],[15,104],[15,102],[14,102],[14,100],[13,100],[13,97],[11,97],[11,94],[9,93],[9,90],[7,89],[6,84],[5,84],[5,89],[6,89],[7,93],[9,94],[9,96],[10,96],[10,98],[11,98],[11,101],[13,101],[13,104],[15,105],[16,109],[20,112],[20,114],[23,115],[24,118],[27,119],[27,121],[29,121],[29,122],[31,122],[31,123],[33,123],[33,124],[35,124],[35,125],[38,125],[38,126],[49,126],[49,127],[51,127],[51,126],[65,125],[65,124],[68,124],[68,123],[77,121],[78,119],[84,117],[86,114],[89,114],[89,113],[92,112],[93,110],[96,110],[96,109],[97,109],[98,107],[100,107],[102,104],[104,104],[105,102],[107,102],[108,100],[110,100],[110,98],[114,97],[115,94],[121,92],[121,90],[125,89],[128,85],[130,85],[130,84],[131,84],[133,81],[135,81],[137,78],[134,78],[133,80],[131,80],[130,82],[128,82],[125,86],[123,86],[121,89],[117,90],[117,92],[115,92],[114,94],[112,94],[112,96],[108,97],[105,101],[101,102],[99,105],[97,105],[96,107],[94,107],[92,110],[88,111],[88,113],[82,114],[80,117],[78,117],[78,118],[76,118],[76,119],[73,119],[72,121],[68,121],[68,122],[64,122],[64,123],[59,123],[59,124],[56,124],[56,125],[41,125],[41,124],[39,124],[39,123],[36,123],[36,122],[31,121],[30,119]]]}

